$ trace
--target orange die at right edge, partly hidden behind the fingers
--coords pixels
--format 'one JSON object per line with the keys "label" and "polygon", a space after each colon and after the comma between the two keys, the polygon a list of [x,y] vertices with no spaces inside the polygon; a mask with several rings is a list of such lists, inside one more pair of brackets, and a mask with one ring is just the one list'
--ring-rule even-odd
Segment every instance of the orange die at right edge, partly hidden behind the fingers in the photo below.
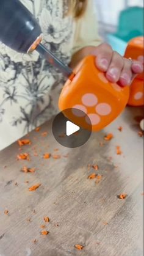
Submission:
{"label": "orange die at right edge, partly hidden behind the fingers", "polygon": [[[143,37],[133,38],[126,48],[124,57],[143,62]],[[139,74],[130,86],[128,104],[130,106],[142,106],[143,101],[143,72]]]}

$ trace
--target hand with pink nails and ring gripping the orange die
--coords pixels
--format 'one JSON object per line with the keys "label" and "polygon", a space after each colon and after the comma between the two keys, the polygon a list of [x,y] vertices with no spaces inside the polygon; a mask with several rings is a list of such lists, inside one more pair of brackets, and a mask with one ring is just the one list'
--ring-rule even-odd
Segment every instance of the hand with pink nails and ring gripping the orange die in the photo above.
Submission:
{"label": "hand with pink nails and ring gripping the orange die", "polygon": [[93,54],[96,56],[96,67],[106,73],[107,80],[118,82],[121,86],[129,86],[135,76],[143,71],[143,60],[126,59],[107,43],[97,46]]}

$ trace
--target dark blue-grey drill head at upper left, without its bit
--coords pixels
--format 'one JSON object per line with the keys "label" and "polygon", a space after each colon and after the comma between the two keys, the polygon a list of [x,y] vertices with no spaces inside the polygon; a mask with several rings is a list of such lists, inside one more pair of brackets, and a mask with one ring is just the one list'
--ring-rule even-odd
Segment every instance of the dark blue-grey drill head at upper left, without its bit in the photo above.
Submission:
{"label": "dark blue-grey drill head at upper left, without its bit", "polygon": [[[0,0],[0,41],[19,53],[40,43],[41,28],[20,0]],[[35,43],[36,42],[36,43]]]}

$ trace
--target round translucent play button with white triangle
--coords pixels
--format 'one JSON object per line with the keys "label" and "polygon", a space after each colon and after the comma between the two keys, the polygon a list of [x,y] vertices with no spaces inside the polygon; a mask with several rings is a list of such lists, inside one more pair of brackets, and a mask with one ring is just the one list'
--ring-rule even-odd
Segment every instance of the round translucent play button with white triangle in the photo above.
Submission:
{"label": "round translucent play button with white triangle", "polygon": [[92,133],[92,124],[88,115],[80,109],[65,109],[54,118],[52,133],[59,144],[76,148],[88,141]]}

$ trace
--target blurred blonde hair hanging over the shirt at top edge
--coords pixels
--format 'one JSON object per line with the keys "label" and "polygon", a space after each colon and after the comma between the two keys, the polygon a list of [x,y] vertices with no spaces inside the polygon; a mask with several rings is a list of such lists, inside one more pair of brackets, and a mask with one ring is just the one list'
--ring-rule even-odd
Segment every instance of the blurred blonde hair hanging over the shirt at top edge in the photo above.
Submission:
{"label": "blurred blonde hair hanging over the shirt at top edge", "polygon": [[87,8],[88,0],[69,0],[69,1],[70,1],[69,13],[71,13],[74,18],[81,17]]}

